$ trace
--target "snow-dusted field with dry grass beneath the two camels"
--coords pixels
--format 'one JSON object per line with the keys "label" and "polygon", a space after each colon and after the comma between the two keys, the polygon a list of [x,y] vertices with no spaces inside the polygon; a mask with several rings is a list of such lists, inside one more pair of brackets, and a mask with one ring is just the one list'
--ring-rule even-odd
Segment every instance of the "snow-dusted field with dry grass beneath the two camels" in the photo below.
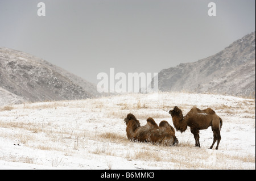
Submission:
{"label": "snow-dusted field with dry grass beneath the two camels", "polygon": [[[131,142],[123,119],[167,120],[179,106],[211,107],[223,120],[218,150],[212,129],[176,131],[177,146]],[[255,99],[185,92],[125,94],[98,99],[0,107],[0,169],[255,169]]]}

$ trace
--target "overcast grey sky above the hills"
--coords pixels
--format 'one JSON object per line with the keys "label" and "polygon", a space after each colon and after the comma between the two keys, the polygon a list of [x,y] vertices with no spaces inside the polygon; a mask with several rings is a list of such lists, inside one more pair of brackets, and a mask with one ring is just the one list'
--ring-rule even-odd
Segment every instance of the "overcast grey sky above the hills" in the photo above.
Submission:
{"label": "overcast grey sky above the hills", "polygon": [[109,68],[154,73],[197,61],[253,31],[255,0],[0,0],[0,47],[93,83]]}

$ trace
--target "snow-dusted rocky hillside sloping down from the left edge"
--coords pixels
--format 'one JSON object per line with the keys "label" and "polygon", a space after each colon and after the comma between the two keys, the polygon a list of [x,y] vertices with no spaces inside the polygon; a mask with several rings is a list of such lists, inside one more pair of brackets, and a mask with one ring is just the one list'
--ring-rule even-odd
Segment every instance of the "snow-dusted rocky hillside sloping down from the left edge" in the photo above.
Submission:
{"label": "snow-dusted rocky hillside sloping down from the left edge", "polygon": [[97,95],[92,83],[40,58],[9,48],[0,48],[0,88],[0,105],[86,99]]}

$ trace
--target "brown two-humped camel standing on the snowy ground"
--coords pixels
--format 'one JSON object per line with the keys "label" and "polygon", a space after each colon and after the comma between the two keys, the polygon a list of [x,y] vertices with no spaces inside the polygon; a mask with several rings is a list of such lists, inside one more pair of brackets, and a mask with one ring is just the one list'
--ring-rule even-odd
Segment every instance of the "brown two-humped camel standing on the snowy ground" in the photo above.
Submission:
{"label": "brown two-humped camel standing on the snowy ground", "polygon": [[210,146],[210,149],[213,148],[216,141],[216,150],[218,149],[218,145],[221,140],[220,131],[222,127],[222,119],[217,116],[211,108],[200,110],[199,108],[193,107],[187,115],[183,117],[182,111],[175,106],[174,110],[170,110],[169,113],[172,116],[172,121],[176,131],[180,131],[182,133],[187,129],[187,127],[190,127],[191,133],[194,135],[196,141],[196,146],[199,147],[199,130],[212,127],[213,143],[212,146]]}

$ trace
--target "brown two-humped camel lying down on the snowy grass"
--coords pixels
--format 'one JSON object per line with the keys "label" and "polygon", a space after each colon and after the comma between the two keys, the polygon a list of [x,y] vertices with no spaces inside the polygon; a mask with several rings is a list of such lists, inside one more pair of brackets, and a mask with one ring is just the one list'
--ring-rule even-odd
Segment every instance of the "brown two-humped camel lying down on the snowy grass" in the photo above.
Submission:
{"label": "brown two-humped camel lying down on the snowy grass", "polygon": [[167,121],[161,121],[158,126],[152,117],[148,117],[147,124],[141,127],[132,113],[129,113],[124,121],[127,138],[131,141],[152,142],[160,145],[177,145],[178,143],[175,129]]}

